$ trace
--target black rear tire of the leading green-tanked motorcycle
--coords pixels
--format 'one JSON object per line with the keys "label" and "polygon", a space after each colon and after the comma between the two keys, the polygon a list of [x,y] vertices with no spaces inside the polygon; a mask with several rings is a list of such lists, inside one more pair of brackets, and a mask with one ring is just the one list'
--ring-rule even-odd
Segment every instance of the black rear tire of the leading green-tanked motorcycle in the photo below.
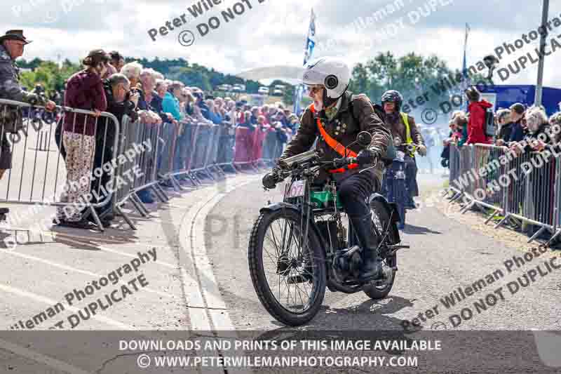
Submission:
{"label": "black rear tire of the leading green-tanked motorcycle", "polygon": [[[381,201],[373,200],[370,202],[370,209],[372,210],[372,223],[376,231],[381,235],[380,239],[388,241],[388,237],[391,237],[389,230],[391,230],[390,225],[390,212]],[[367,286],[364,288],[364,293],[371,299],[379,300],[385,298],[391,291],[393,287],[393,282],[396,281],[396,272],[392,267],[396,264],[396,254],[392,255],[390,258],[384,258],[382,262],[384,272],[386,273],[386,281],[380,286]]]}

